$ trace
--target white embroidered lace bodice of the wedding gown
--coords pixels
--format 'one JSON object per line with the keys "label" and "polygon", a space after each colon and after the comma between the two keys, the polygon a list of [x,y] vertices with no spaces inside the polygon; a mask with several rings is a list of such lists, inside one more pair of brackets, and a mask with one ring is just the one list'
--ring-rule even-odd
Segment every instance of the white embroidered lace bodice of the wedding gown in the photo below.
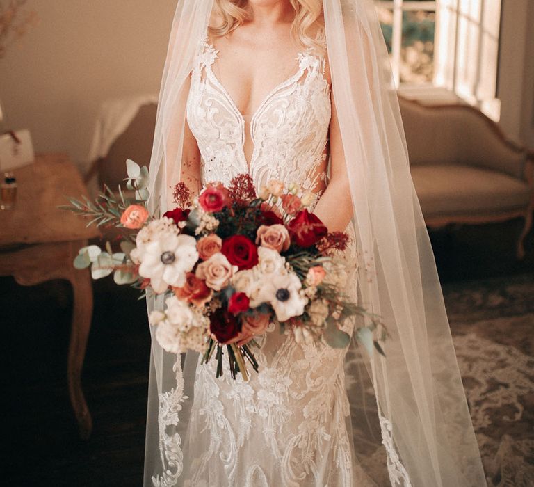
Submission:
{"label": "white embroidered lace bodice of the wedding gown", "polygon": [[[330,86],[325,59],[311,50],[298,54],[298,70],[275,86],[245,117],[213,73],[218,51],[208,42],[191,74],[187,121],[202,156],[203,182],[225,184],[250,173],[257,188],[270,179],[296,183],[302,191],[325,181],[330,124]],[[245,138],[254,149],[245,157]]]}

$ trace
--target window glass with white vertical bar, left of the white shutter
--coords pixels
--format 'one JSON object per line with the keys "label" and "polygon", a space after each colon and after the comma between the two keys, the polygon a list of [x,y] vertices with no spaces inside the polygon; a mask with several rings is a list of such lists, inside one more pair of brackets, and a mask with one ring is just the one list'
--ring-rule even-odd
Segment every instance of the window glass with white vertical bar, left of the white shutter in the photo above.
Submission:
{"label": "window glass with white vertical bar, left of the white shutter", "polygon": [[436,1],[378,1],[382,33],[399,84],[426,85],[434,80]]}

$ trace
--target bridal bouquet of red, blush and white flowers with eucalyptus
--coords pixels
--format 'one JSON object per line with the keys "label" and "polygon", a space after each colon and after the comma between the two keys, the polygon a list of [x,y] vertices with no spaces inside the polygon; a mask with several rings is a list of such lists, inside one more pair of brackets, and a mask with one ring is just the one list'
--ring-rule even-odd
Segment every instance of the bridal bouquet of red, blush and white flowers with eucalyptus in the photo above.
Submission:
{"label": "bridal bouquet of red, blush and white flowers with eucalyptus", "polygon": [[[176,207],[163,216],[147,210],[148,171],[127,161],[129,200],[107,186],[95,202],[71,199],[65,207],[89,224],[111,225],[122,235],[122,252],[111,244],[88,246],[74,260],[92,277],[111,273],[117,284],[130,284],[143,296],[163,295],[165,310],[154,310],[149,322],[156,340],[168,352],[202,353],[202,362],[216,357],[217,377],[223,374],[225,350],[232,378],[245,381],[245,362],[257,371],[250,337],[268,326],[293,333],[297,342],[323,342],[345,347],[350,336],[340,325],[357,314],[370,316],[343,294],[348,263],[339,257],[349,237],[328,232],[309,211],[312,193],[270,181],[257,195],[252,179],[238,175],[229,186],[207,184],[193,198],[184,183],[174,189]],[[369,353],[380,353],[385,330],[371,316],[358,328],[357,340]]]}

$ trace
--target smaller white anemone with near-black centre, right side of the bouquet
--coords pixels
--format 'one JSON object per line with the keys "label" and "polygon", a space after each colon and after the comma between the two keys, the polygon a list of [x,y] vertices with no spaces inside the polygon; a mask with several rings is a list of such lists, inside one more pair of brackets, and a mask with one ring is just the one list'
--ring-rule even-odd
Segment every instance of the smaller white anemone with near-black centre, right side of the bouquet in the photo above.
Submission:
{"label": "smaller white anemone with near-black centre, right side of the bouquet", "polygon": [[302,283],[296,274],[287,273],[270,278],[264,296],[273,306],[278,321],[287,321],[304,312],[308,299],[300,295],[300,289]]}

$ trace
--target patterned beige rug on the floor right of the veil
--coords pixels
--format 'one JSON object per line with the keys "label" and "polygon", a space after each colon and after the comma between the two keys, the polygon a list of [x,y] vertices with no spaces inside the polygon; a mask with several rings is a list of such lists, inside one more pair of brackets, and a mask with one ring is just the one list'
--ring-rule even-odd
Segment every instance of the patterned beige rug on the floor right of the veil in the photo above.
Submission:
{"label": "patterned beige rug on the floor right of the veil", "polygon": [[488,484],[534,486],[534,276],[444,296]]}

